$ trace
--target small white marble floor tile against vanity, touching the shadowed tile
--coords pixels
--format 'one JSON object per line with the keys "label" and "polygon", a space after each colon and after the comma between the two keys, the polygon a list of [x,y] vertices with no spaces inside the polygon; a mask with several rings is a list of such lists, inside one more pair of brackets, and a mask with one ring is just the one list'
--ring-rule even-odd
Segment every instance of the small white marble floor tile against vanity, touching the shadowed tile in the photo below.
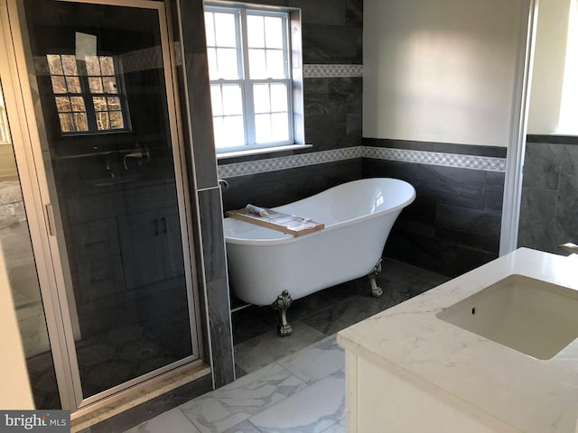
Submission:
{"label": "small white marble floor tile against vanity, touching the shadowed tile", "polygon": [[303,382],[316,382],[345,367],[345,352],[335,336],[328,336],[301,352],[277,361]]}

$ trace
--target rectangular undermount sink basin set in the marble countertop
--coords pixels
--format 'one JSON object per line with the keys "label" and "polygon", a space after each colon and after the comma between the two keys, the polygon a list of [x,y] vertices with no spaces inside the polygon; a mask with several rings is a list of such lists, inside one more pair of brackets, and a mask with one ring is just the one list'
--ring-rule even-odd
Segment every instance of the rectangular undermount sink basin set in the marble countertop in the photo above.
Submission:
{"label": "rectangular undermount sink basin set in the marble countertop", "polygon": [[578,337],[578,291],[510,275],[443,309],[436,317],[546,360]]}

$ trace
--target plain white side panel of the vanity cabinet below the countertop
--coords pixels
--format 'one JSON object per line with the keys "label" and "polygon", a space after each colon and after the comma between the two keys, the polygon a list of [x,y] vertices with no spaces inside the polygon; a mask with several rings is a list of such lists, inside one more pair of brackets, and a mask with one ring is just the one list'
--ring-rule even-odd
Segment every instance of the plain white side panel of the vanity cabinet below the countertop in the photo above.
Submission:
{"label": "plain white side panel of the vanity cabinet below the countertop", "polygon": [[346,351],[347,432],[520,432],[431,383]]}

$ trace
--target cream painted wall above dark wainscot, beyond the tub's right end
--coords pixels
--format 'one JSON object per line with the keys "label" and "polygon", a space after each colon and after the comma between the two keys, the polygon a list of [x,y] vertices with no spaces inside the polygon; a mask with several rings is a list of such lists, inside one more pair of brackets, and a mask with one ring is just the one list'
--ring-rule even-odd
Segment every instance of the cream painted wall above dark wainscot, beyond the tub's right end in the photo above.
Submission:
{"label": "cream painted wall above dark wainscot, beyond the tub's right end", "polygon": [[507,147],[521,1],[365,0],[363,136]]}

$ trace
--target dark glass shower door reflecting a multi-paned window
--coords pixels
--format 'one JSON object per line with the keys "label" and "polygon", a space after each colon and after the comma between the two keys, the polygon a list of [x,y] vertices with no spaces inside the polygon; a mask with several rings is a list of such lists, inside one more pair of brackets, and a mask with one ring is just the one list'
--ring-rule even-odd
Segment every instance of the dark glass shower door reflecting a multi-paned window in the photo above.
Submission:
{"label": "dark glass shower door reflecting a multi-paned window", "polygon": [[163,3],[19,5],[81,406],[199,358]]}

